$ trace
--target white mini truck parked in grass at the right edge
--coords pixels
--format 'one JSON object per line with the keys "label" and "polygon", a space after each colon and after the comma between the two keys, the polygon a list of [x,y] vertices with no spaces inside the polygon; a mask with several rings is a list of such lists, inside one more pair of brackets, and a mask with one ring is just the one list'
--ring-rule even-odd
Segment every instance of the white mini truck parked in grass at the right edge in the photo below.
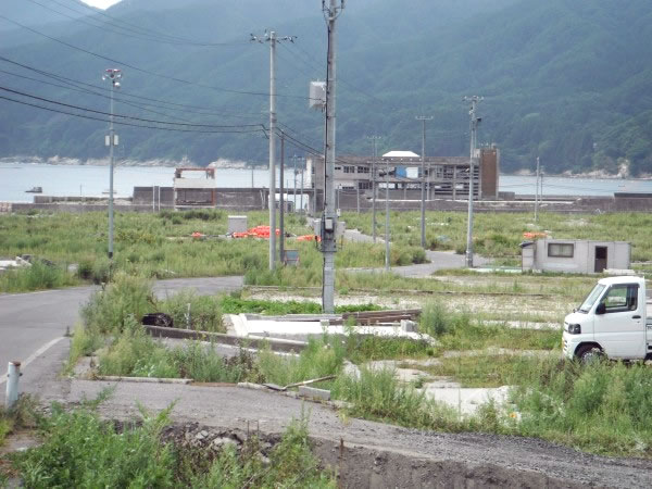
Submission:
{"label": "white mini truck parked in grass at the right edge", "polygon": [[598,281],[579,309],[564,318],[564,355],[589,361],[652,360],[652,317],[645,279],[610,277]]}

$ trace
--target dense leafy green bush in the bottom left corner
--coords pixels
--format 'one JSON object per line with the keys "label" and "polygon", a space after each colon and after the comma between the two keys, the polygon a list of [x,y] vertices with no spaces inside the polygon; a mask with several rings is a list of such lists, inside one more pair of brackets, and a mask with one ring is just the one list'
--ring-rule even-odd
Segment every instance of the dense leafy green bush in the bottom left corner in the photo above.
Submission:
{"label": "dense leafy green bush in the bottom left corner", "polygon": [[139,426],[105,423],[87,409],[54,406],[43,443],[15,456],[23,484],[41,487],[173,487],[174,450],[159,441],[166,412]]}

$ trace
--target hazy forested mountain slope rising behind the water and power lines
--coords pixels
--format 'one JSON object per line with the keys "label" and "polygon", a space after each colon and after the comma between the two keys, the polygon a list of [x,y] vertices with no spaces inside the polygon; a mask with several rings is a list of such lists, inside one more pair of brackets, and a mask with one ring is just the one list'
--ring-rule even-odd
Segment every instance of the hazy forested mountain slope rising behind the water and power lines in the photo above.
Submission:
{"label": "hazy forested mountain slope rising behind the water and power lines", "polygon": [[[29,2],[23,3],[21,15],[27,15]],[[540,156],[547,173],[617,173],[624,161],[632,174],[652,173],[651,21],[648,0],[349,0],[337,25],[338,153],[371,152],[365,136],[372,134],[384,137],[380,150],[419,153],[414,117],[426,114],[435,117],[427,125],[427,154],[466,154],[462,98],[479,95],[479,140],[501,147],[504,171],[531,168]],[[105,113],[109,87],[100,76],[120,66],[116,113],[212,126],[268,123],[269,50],[249,35],[274,28],[281,37],[298,36],[277,49],[278,120],[292,138],[323,146],[323,115],[309,111],[306,100],[309,82],[325,79],[318,0],[123,0],[105,14],[61,22],[67,30],[50,36],[61,42],[34,33],[20,46],[0,39],[0,70],[12,73],[2,74],[1,87]],[[92,87],[73,89],[70,80],[7,60]],[[0,97],[106,118],[15,92]],[[106,154],[103,122],[0,103],[0,155]],[[266,161],[260,133],[186,129],[193,131],[120,126],[118,155]]]}

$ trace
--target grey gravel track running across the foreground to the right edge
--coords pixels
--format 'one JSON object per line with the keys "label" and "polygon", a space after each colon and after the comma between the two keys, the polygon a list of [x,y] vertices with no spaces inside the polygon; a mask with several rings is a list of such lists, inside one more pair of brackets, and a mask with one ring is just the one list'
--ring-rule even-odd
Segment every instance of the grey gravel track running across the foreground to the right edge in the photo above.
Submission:
{"label": "grey gravel track running across the foreground to the right edge", "polygon": [[[459,487],[634,488],[649,487],[652,474],[652,461],[590,455],[529,438],[425,432],[361,419],[342,419],[330,408],[265,391],[237,387],[67,383],[68,388],[64,389],[70,392],[65,396],[67,402],[92,399],[102,389],[115,386],[113,396],[101,408],[102,413],[112,418],[137,415],[137,401],[152,410],[164,409],[176,401],[175,422],[196,422],[221,429],[260,426],[262,432],[274,434],[283,430],[290,419],[301,417],[302,412],[308,413],[310,434],[326,453],[334,453],[340,440],[354,450],[352,453],[361,450],[359,462],[362,465],[354,471],[358,478],[352,479],[350,487],[431,487],[443,484]],[[379,461],[374,459],[369,462],[368,453],[378,454]],[[366,462],[362,463],[362,460]],[[351,464],[353,467],[358,465],[355,457]],[[409,478],[409,484],[383,476],[389,472],[411,474],[413,468],[417,471],[416,476],[422,474],[425,477],[437,471],[443,473],[438,478],[421,482]]]}

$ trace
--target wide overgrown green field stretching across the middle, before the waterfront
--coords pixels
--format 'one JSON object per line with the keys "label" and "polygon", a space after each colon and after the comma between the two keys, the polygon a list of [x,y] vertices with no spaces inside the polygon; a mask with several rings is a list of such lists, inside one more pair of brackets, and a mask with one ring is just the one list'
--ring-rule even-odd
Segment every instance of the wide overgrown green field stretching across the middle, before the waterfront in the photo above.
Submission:
{"label": "wide overgrown green field stretching across the middle, before the waterfront", "polygon": [[[251,226],[265,224],[267,213],[248,214]],[[347,213],[342,216],[348,227],[358,227],[371,234],[371,215]],[[419,244],[419,216],[414,212],[391,213],[392,266],[421,263],[425,260]],[[539,225],[534,226],[531,215],[523,213],[480,213],[475,224],[475,250],[498,260],[498,263],[518,263],[518,243],[523,233],[546,230],[555,238],[628,240],[632,243],[632,259],[652,260],[652,242],[647,228],[652,217],[647,214],[562,215],[541,214]],[[305,218],[289,214],[287,230],[296,235],[310,233]],[[429,212],[427,214],[427,242],[430,249],[463,251],[466,236],[466,217],[463,213]],[[0,276],[0,291],[35,290],[65,287],[84,281],[108,281],[110,274],[124,271],[148,278],[198,277],[244,274],[252,285],[287,287],[315,287],[321,285],[322,255],[315,243],[296,242],[288,239],[287,248],[300,251],[297,268],[267,269],[268,244],[265,240],[230,240],[224,237],[227,214],[224,211],[163,211],[159,214],[117,213],[115,218],[115,260],[110,271],[106,259],[106,216],[103,213],[48,214],[0,216],[0,256],[13,258],[30,254],[54,264],[39,264],[34,269],[10,272]],[[205,239],[192,239],[192,233],[206,235]],[[381,244],[344,242],[337,253],[338,287],[342,290],[363,288],[362,280],[346,274],[344,268],[381,267],[385,248]],[[76,264],[77,272],[67,272]],[[457,274],[459,275],[459,274]],[[439,279],[446,281],[447,273]],[[581,283],[582,278],[576,278]],[[374,279],[373,287],[425,288],[437,286],[402,280],[383,275]],[[444,287],[450,287],[451,280]],[[481,286],[467,289],[480,291]],[[460,290],[461,280],[453,286]],[[559,284],[566,290],[576,290],[573,280]],[[527,276],[500,277],[496,284],[512,292],[557,293],[554,280]],[[563,292],[563,290],[562,290]],[[577,298],[576,298],[577,299]]]}

